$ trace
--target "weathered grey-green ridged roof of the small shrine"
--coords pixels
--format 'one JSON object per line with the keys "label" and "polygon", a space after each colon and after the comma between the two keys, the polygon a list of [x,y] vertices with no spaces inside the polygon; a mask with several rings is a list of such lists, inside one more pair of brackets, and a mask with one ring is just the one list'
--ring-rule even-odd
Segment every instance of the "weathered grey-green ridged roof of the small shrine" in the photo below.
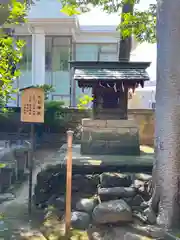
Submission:
{"label": "weathered grey-green ridged roof of the small shrine", "polygon": [[149,62],[71,62],[77,81],[148,81]]}

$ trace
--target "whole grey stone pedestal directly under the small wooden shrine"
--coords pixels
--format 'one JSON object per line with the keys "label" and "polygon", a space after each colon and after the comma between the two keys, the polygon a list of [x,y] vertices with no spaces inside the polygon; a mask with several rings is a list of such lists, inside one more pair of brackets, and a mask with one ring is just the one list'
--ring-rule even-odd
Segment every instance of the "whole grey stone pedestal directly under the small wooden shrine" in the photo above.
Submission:
{"label": "whole grey stone pedestal directly under the small wooden shrine", "polygon": [[140,155],[139,129],[133,120],[82,120],[81,154]]}

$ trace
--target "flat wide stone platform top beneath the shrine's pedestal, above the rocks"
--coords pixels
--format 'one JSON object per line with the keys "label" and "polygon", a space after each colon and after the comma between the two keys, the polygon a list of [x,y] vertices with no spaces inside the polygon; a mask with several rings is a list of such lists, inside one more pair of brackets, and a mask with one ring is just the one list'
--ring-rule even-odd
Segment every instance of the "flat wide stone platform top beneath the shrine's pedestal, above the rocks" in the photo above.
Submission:
{"label": "flat wide stone platform top beneath the shrine's pedestal, above the rocks", "polygon": [[[73,156],[73,169],[80,168],[83,169],[97,170],[101,171],[108,169],[108,171],[128,171],[133,172],[136,169],[137,172],[151,172],[154,154],[142,153],[140,156],[131,155],[82,155],[80,152],[80,144],[73,144],[72,156]],[[51,159],[51,164],[62,164],[66,165],[67,160],[67,144],[62,145],[59,151],[56,152],[55,156]],[[99,170],[98,170],[99,169]]]}

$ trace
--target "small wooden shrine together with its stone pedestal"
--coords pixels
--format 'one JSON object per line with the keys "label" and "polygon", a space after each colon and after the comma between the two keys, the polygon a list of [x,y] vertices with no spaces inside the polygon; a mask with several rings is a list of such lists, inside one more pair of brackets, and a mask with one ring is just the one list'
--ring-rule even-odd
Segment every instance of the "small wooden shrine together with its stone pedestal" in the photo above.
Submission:
{"label": "small wooden shrine together with its stone pedestal", "polygon": [[82,120],[82,154],[140,154],[139,130],[128,120],[128,92],[149,80],[149,62],[71,62],[80,88],[92,88],[93,118]]}

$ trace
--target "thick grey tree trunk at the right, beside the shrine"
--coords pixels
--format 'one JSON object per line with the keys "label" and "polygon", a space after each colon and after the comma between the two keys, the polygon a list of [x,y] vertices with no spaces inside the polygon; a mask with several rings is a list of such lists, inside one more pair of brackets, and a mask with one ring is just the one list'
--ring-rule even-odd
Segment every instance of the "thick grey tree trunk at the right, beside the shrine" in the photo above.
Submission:
{"label": "thick grey tree trunk at the right, beside the shrine", "polygon": [[155,177],[157,221],[166,228],[180,225],[179,13],[179,0],[158,0]]}

